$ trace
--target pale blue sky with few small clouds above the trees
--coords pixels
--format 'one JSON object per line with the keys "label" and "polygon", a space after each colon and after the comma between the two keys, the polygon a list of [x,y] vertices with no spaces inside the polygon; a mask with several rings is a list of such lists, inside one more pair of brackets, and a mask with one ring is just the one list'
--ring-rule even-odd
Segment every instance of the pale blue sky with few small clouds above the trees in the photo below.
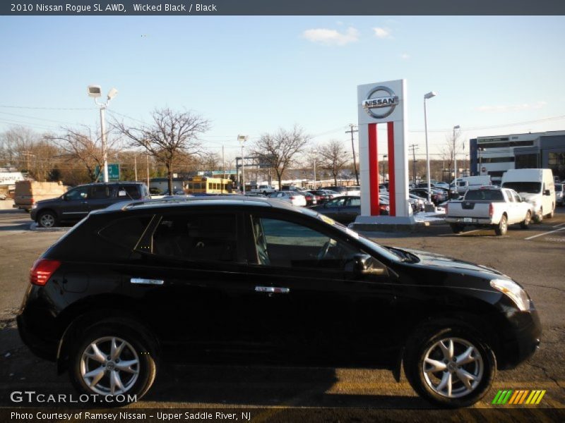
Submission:
{"label": "pale blue sky with few small clouds above the trees", "polygon": [[3,16],[0,39],[0,131],[97,127],[86,87],[98,84],[119,90],[118,114],[148,121],[169,106],[210,119],[213,151],[295,123],[314,142],[345,142],[357,85],[401,78],[420,154],[432,90],[432,153],[453,125],[465,140],[565,129],[561,16]]}

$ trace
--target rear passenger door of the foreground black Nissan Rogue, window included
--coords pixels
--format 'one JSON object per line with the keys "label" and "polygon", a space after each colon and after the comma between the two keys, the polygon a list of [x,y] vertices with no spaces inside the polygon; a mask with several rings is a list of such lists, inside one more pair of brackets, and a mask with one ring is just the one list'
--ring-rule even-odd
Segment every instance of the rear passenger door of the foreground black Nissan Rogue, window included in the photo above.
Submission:
{"label": "rear passenger door of the foreground black Nissan Rogue, window included", "polygon": [[240,220],[209,208],[158,214],[136,247],[124,286],[179,360],[235,360],[258,345]]}

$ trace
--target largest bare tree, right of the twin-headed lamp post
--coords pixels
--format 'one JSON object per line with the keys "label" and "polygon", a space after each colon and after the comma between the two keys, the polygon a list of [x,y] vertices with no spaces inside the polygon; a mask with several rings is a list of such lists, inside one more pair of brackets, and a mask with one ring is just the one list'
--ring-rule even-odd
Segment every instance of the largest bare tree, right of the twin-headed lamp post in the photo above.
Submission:
{"label": "largest bare tree, right of the twin-headed lamp post", "polygon": [[114,122],[114,127],[124,134],[133,146],[141,146],[167,168],[169,192],[172,192],[172,174],[175,161],[182,154],[201,154],[198,135],[205,133],[209,122],[189,111],[177,112],[171,109],[155,109],[150,126],[126,127]]}

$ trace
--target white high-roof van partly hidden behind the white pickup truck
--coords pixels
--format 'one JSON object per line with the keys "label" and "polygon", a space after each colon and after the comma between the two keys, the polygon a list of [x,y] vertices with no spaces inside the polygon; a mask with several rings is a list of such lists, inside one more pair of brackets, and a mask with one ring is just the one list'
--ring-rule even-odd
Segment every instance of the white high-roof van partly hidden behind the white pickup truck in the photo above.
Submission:
{"label": "white high-roof van partly hidden behind the white pickup truck", "polygon": [[551,169],[510,169],[502,176],[502,188],[511,188],[534,205],[534,219],[553,217],[555,183]]}

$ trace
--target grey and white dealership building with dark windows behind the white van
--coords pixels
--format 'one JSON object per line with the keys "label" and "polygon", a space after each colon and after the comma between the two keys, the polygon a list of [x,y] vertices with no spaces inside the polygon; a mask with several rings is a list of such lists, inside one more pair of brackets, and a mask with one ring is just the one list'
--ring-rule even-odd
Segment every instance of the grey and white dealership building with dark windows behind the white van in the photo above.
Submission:
{"label": "grey and white dealership building with dark windows behind the white van", "polygon": [[565,180],[565,130],[472,138],[469,152],[472,176],[500,182],[509,169],[550,168]]}

